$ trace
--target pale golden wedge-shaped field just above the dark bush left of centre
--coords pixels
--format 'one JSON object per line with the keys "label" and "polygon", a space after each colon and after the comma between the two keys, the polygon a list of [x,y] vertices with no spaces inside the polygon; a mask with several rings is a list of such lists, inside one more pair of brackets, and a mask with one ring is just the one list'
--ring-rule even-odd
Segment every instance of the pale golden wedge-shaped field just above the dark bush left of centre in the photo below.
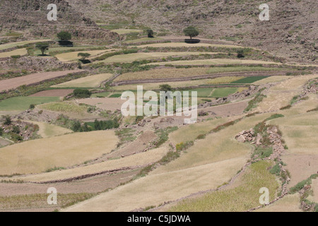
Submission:
{"label": "pale golden wedge-shaped field just above the dark bush left of centre", "polygon": [[112,77],[112,73],[100,73],[93,76],[87,76],[84,78],[78,78],[66,83],[53,85],[53,88],[98,88],[103,81],[107,81]]}

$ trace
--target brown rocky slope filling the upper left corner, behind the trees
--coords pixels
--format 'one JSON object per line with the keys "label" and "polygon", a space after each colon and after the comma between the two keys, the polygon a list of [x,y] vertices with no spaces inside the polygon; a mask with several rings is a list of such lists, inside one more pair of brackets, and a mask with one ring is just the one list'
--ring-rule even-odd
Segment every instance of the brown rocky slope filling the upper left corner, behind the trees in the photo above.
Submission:
{"label": "brown rocky slope filling the upper left corner, behind the trees", "polygon": [[[57,4],[57,21],[47,20],[49,4]],[[119,35],[99,28],[64,0],[0,0],[0,6],[0,28],[30,30],[30,35],[37,37],[53,37],[60,30],[69,30],[77,38],[119,40]]]}

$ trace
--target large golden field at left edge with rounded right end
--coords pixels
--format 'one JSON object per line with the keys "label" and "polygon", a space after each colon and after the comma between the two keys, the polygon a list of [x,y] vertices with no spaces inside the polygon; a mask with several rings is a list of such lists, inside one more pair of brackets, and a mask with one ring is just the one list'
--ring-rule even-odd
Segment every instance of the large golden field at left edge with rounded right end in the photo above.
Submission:
{"label": "large golden field at left edge with rounded right end", "polygon": [[30,174],[81,164],[110,153],[118,141],[114,131],[72,133],[25,141],[0,149],[0,172]]}

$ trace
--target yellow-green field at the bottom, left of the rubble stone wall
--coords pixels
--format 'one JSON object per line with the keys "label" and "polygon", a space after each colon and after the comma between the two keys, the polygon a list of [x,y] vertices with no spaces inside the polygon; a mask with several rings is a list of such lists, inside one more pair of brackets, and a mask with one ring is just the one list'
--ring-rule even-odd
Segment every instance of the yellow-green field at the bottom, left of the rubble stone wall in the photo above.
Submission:
{"label": "yellow-green field at the bottom, left of the rubble stone wall", "polygon": [[213,191],[200,198],[180,201],[170,208],[172,212],[242,212],[259,206],[259,189],[269,189],[269,200],[273,200],[278,189],[276,177],[267,168],[271,162],[252,164],[242,177],[240,186],[234,189]]}

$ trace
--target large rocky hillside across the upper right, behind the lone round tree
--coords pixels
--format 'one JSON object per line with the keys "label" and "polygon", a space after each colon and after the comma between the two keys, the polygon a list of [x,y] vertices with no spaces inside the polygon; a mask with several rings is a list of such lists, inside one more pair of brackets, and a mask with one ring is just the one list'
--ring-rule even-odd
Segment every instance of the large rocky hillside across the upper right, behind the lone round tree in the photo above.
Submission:
{"label": "large rocky hillside across the upper right, behind the lone round tree", "polygon": [[66,0],[95,21],[143,25],[182,32],[196,25],[201,35],[273,52],[291,61],[317,62],[317,1],[271,0],[270,21],[259,20],[260,0]]}

